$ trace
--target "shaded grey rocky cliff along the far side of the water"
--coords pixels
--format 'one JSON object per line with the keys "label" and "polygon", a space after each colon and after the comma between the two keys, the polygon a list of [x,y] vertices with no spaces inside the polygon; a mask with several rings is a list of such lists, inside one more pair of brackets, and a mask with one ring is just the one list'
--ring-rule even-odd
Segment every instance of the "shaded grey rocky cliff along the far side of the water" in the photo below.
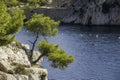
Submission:
{"label": "shaded grey rocky cliff along the far side of the water", "polygon": [[120,25],[120,0],[53,0],[49,6],[33,12],[64,23]]}

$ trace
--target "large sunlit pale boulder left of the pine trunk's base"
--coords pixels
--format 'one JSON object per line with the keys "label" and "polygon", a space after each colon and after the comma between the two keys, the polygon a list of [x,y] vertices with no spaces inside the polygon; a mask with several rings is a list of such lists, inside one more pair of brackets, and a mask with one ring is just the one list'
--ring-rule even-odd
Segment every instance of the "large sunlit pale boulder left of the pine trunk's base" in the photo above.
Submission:
{"label": "large sunlit pale boulder left of the pine trunk's base", "polygon": [[17,64],[26,67],[31,66],[24,50],[16,46],[8,45],[0,47],[0,55],[0,63],[7,69],[6,71],[13,70],[14,66]]}

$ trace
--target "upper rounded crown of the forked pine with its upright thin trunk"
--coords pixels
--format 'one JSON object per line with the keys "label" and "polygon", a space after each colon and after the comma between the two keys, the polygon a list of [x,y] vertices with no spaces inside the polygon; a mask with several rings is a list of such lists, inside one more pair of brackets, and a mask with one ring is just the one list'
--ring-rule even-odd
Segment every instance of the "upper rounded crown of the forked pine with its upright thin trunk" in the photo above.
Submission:
{"label": "upper rounded crown of the forked pine with its upright thin trunk", "polygon": [[36,34],[35,40],[32,43],[32,49],[30,54],[31,63],[33,62],[32,56],[35,48],[35,44],[38,41],[39,35],[43,36],[55,36],[57,34],[58,22],[45,17],[42,14],[34,14],[29,21],[26,22],[27,29]]}

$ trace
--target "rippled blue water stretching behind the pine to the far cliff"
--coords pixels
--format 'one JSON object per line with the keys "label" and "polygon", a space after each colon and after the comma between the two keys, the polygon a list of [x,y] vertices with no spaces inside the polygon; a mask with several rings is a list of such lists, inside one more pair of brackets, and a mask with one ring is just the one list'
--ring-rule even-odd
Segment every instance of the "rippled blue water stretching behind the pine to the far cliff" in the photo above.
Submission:
{"label": "rippled blue water stretching behind the pine to the far cliff", "polygon": [[[17,39],[29,44],[34,34],[23,29]],[[120,80],[119,26],[61,25],[58,36],[47,39],[75,57],[65,70],[50,67],[44,58],[42,66],[48,69],[49,80]]]}

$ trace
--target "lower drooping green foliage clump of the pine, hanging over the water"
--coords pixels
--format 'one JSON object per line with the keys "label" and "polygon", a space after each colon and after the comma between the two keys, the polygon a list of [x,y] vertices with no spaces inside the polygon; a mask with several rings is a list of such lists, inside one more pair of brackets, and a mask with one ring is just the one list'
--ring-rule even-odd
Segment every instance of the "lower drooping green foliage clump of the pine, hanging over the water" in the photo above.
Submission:
{"label": "lower drooping green foliage clump of the pine, hanging over the water", "polygon": [[54,68],[64,69],[74,61],[72,55],[68,55],[63,49],[59,49],[59,45],[54,45],[46,40],[39,42],[38,48],[42,53],[39,58],[48,57],[48,60],[51,61],[51,66]]}

